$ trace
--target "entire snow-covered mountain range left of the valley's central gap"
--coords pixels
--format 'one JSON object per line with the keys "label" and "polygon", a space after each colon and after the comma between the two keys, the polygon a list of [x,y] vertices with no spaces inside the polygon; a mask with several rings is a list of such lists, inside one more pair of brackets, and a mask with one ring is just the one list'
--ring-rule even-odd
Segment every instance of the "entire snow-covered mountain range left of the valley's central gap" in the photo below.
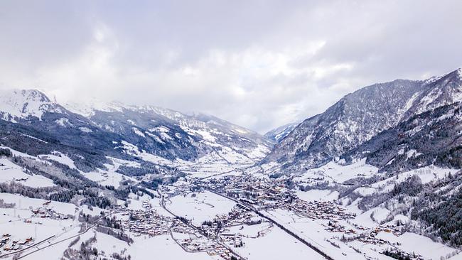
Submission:
{"label": "entire snow-covered mountain range left of the valley's central gap", "polygon": [[203,114],[91,100],[58,104],[38,90],[0,93],[1,144],[33,155],[60,151],[77,168],[104,168],[105,156],[195,161],[210,153],[252,164],[272,147],[263,136]]}

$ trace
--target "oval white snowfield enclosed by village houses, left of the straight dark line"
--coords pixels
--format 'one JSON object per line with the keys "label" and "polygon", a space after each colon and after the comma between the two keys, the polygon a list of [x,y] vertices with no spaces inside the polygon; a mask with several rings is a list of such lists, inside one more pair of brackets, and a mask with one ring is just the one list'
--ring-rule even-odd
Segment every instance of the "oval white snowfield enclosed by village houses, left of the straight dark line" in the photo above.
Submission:
{"label": "oval white snowfield enclosed by village houses, left of the straight dark line", "polygon": [[[195,196],[194,196],[195,195]],[[171,204],[166,207],[176,215],[193,220],[194,224],[202,224],[205,220],[213,220],[216,215],[227,214],[236,205],[214,193],[188,193],[186,196],[171,197]]]}

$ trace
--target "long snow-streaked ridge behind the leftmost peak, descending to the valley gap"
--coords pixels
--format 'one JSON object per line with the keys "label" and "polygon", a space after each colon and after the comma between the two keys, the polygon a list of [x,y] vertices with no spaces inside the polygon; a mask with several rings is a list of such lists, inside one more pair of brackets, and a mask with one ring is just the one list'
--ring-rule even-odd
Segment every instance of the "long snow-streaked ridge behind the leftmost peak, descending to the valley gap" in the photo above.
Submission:
{"label": "long snow-streaked ridge behind the leftmost peak, descending to the valley gap", "polygon": [[[158,154],[166,158],[189,160],[225,149],[253,161],[262,158],[272,146],[254,131],[205,114],[187,115],[161,107],[119,102],[92,101],[65,107],[100,129],[120,134],[129,143],[138,143],[146,151],[158,153],[159,147],[165,148],[168,153]],[[176,150],[178,153],[169,154]]]}

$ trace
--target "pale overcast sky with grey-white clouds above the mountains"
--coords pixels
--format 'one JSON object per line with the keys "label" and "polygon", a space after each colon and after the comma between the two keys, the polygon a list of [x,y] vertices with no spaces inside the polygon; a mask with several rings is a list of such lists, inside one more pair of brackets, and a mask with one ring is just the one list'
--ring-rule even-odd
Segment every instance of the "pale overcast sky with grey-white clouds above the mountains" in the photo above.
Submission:
{"label": "pale overcast sky with grey-white clouds above the mountains", "polygon": [[1,1],[0,88],[205,112],[264,133],[462,66],[462,1]]}

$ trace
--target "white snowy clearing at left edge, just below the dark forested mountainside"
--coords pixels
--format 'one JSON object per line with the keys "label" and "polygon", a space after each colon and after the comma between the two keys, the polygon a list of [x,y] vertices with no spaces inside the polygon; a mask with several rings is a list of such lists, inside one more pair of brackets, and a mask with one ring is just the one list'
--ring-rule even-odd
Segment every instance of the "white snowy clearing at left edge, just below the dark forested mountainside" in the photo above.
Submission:
{"label": "white snowy clearing at left edge, just below the dark forested mountainside", "polygon": [[0,158],[0,183],[9,183],[13,180],[22,185],[38,188],[38,187],[52,187],[53,180],[46,178],[42,175],[24,173],[23,168],[17,166],[6,158]]}

